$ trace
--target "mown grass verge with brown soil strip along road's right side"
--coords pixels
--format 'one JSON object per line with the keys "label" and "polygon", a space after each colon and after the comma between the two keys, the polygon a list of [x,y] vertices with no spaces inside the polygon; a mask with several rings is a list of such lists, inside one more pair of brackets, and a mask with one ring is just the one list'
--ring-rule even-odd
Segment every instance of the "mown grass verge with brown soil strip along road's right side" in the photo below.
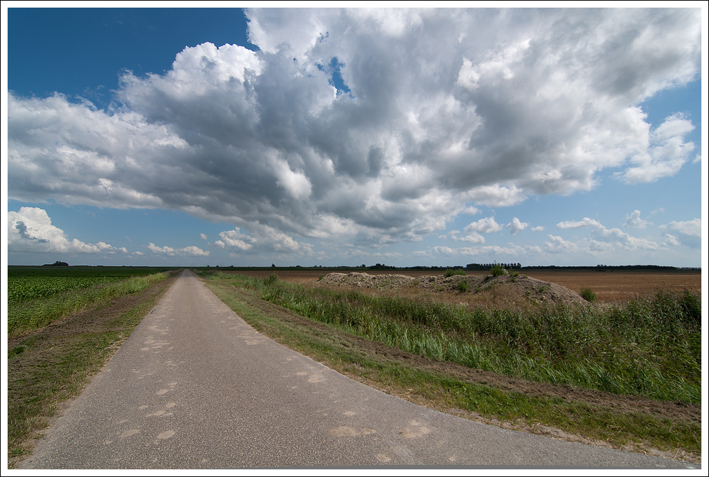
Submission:
{"label": "mown grass verge with brown soil strip along road's right side", "polygon": [[[663,403],[602,391],[569,391],[549,396],[554,385],[530,391],[522,380],[467,379],[463,367],[401,352],[262,301],[231,280],[207,280],[210,289],[237,314],[279,343],[338,372],[408,401],[465,418],[576,442],[603,445],[669,458],[700,461],[701,418]],[[510,385],[510,383],[516,383]],[[564,391],[562,389],[562,391]],[[589,394],[591,393],[591,394]],[[584,397],[586,396],[586,397]],[[590,396],[590,397],[589,397]],[[653,407],[654,406],[654,407]]]}

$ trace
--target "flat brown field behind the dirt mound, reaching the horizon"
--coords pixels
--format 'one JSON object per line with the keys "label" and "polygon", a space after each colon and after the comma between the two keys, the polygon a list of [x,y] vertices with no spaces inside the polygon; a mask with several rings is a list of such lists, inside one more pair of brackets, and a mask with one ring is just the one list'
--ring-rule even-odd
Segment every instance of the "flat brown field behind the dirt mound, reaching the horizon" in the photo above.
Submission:
{"label": "flat brown field behind the dirt mound, reaching the horizon", "polygon": [[[226,272],[226,270],[223,270]],[[275,273],[281,280],[294,283],[315,282],[321,275],[328,275],[333,270],[277,270]],[[337,270],[334,270],[337,271]],[[365,270],[369,275],[408,275],[420,277],[423,275],[443,275],[443,271],[434,270]],[[267,277],[271,270],[240,270],[228,272],[250,277]],[[342,271],[342,273],[348,273]],[[487,272],[469,271],[468,275],[487,275]],[[556,283],[580,293],[582,288],[590,288],[596,293],[598,301],[625,301],[637,295],[646,295],[658,289],[689,289],[697,294],[702,291],[702,274],[699,271],[687,272],[596,272],[596,270],[538,270],[522,272],[537,280]]]}

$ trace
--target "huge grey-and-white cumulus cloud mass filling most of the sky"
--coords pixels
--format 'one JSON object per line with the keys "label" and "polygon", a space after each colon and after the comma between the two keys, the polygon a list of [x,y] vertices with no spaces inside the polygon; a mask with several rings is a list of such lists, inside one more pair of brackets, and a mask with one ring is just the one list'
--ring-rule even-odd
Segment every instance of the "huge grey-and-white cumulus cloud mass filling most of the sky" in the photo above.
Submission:
{"label": "huge grey-and-white cumulus cloud mass filling most of the sky", "polygon": [[416,241],[474,204],[691,159],[691,120],[652,129],[638,105],[696,79],[698,9],[247,16],[259,52],[186,47],[166,74],[125,74],[105,111],[11,93],[9,197],[182,209],[272,231],[225,233],[235,251],[302,250],[291,234]]}

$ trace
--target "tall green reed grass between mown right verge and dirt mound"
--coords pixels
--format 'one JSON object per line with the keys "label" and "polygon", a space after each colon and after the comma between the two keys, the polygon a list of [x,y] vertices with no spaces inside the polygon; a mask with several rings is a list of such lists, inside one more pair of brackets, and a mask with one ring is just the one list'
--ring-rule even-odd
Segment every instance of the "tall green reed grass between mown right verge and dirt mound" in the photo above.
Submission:
{"label": "tall green reed grass between mown right verge and dirt mound", "polygon": [[233,283],[313,320],[437,360],[538,382],[700,403],[701,300],[693,292],[660,291],[609,309],[529,311],[370,296],[275,276]]}

